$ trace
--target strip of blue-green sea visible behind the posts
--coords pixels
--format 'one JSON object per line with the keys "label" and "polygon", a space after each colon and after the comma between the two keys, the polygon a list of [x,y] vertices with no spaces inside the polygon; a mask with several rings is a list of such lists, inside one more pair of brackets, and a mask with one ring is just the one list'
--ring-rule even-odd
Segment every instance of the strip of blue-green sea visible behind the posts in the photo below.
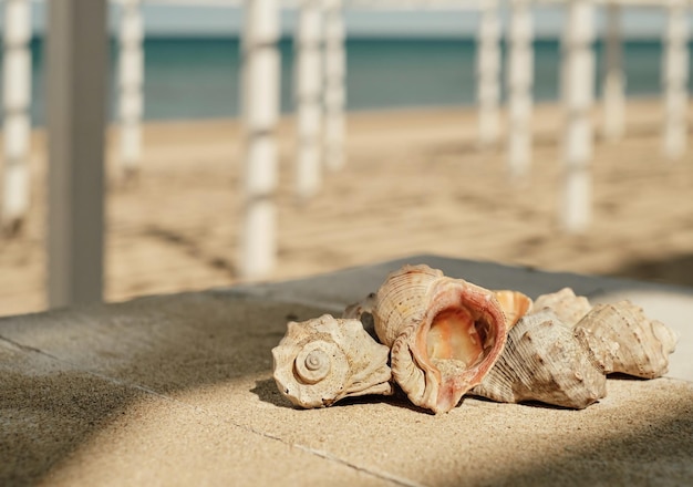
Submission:
{"label": "strip of blue-green sea visible behind the posts", "polygon": [[[149,38],[144,42],[145,120],[236,117],[239,113],[240,43],[238,38]],[[693,44],[689,45],[689,50]],[[346,41],[346,110],[461,107],[476,100],[475,39],[349,39]],[[603,44],[597,54],[596,93],[600,92]],[[111,42],[110,115],[116,117],[117,43]],[[281,111],[293,110],[293,43],[279,42]],[[501,46],[503,55],[507,46]],[[44,42],[31,41],[32,124],[44,121]],[[534,97],[559,95],[560,43],[534,43]],[[1,58],[1,54],[0,54]],[[627,94],[661,92],[662,42],[628,40],[623,45]],[[0,64],[1,66],[1,64]],[[693,80],[693,63],[690,63]],[[0,68],[1,70],[1,68]],[[2,77],[0,77],[2,80]],[[689,83],[691,86],[691,83]],[[504,94],[505,96],[505,94]]]}

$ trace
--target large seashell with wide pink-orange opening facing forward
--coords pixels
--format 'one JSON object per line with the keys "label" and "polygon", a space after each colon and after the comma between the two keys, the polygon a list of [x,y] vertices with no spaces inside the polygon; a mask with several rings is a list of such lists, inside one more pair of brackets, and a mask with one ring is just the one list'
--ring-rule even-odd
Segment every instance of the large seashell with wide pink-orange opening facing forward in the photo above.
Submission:
{"label": "large seashell with wide pink-orange opening facing forward", "polygon": [[435,413],[455,407],[498,359],[507,334],[495,294],[404,266],[377,290],[375,332],[390,346],[392,375],[410,401]]}

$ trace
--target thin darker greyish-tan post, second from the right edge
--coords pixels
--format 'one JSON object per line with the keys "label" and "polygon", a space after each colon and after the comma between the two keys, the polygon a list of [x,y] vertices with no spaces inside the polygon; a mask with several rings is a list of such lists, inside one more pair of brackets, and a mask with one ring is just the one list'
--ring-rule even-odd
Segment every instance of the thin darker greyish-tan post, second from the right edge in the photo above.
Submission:
{"label": "thin darker greyish-tan post, second from the right edge", "polygon": [[603,136],[618,141],[623,136],[625,120],[625,77],[622,68],[621,7],[607,6],[604,35]]}

